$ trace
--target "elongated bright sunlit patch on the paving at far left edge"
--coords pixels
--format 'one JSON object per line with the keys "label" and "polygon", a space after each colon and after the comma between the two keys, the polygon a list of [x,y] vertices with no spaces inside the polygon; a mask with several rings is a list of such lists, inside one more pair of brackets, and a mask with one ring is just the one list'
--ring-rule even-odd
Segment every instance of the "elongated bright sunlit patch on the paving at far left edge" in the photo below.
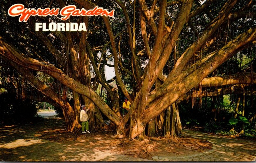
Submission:
{"label": "elongated bright sunlit patch on the paving at far left edge", "polygon": [[0,144],[0,148],[12,149],[33,144],[44,144],[42,139],[17,139],[11,143]]}

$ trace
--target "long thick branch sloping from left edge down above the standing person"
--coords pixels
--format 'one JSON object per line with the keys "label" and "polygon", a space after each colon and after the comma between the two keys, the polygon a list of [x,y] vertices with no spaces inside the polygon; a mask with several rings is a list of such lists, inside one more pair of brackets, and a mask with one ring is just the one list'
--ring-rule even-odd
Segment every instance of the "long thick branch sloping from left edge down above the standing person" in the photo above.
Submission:
{"label": "long thick branch sloping from left edge down above the standing person", "polygon": [[28,67],[29,69],[44,71],[44,73],[49,74],[50,76],[56,78],[62,84],[66,85],[68,88],[76,91],[81,95],[88,97],[94,102],[95,105],[99,107],[102,113],[105,114],[109,118],[109,120],[111,120],[116,125],[119,124],[120,118],[108,107],[108,105],[100,98],[100,96],[91,88],[68,77],[60,69],[57,69],[56,67],[51,66],[48,63],[43,63],[36,59],[32,59],[32,58],[26,57],[23,54],[18,53],[11,46],[4,43],[2,38],[0,38],[0,51],[1,51],[0,54],[5,56],[8,60],[12,60],[16,64],[20,66]]}

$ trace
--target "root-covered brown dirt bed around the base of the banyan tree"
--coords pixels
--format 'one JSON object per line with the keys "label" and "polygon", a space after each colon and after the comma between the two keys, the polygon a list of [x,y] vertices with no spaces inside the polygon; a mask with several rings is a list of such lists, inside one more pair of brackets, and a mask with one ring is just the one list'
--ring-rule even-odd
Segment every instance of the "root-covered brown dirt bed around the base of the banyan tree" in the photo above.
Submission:
{"label": "root-covered brown dirt bed around the base of the banyan tree", "polygon": [[106,150],[111,153],[129,155],[135,158],[152,160],[152,156],[185,156],[212,149],[212,144],[206,140],[192,137],[180,137],[177,141],[168,143],[166,139],[144,141],[127,141],[127,138],[117,138],[112,131],[101,131],[91,134],[81,134],[76,138],[66,133],[53,130],[39,137],[64,144],[75,144],[91,150]]}

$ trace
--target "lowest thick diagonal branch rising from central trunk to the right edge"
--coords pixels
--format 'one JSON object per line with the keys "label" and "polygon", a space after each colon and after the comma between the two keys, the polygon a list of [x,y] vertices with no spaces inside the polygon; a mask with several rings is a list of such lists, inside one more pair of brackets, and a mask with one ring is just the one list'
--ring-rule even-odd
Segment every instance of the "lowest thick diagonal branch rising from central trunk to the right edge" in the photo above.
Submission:
{"label": "lowest thick diagonal branch rising from central trunk to the right edge", "polygon": [[[206,76],[211,74],[218,66],[231,58],[234,54],[236,54],[237,50],[246,44],[256,40],[256,28],[251,28],[245,33],[237,36],[234,40],[230,41],[227,45],[222,47],[218,52],[208,59],[200,68],[196,69],[192,74],[188,75],[186,78],[178,80],[178,82],[168,82],[167,87],[163,87],[164,84],[160,86],[158,92],[168,92],[164,96],[156,96],[157,100],[155,100],[152,105],[147,101],[148,109],[145,111],[145,115],[142,117],[144,122],[147,123],[150,119],[153,119],[160,113],[162,113],[168,106],[178,100],[181,96],[187,93],[190,89],[195,87],[199,82],[201,82]],[[193,81],[193,82],[192,82]],[[167,80],[165,81],[167,82]],[[164,101],[164,103],[163,103]],[[153,115],[152,109],[160,108],[155,111]]]}

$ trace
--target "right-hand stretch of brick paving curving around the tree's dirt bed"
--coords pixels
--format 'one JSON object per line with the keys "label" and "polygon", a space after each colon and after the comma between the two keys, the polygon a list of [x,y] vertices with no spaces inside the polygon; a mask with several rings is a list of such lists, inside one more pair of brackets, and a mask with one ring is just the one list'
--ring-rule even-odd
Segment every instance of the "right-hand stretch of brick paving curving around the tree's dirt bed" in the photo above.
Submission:
{"label": "right-hand stretch of brick paving curving around the tree's dirt bed", "polygon": [[153,157],[154,161],[256,161],[256,142],[244,139],[232,139],[223,136],[206,134],[200,131],[183,130],[183,134],[212,143],[213,149],[191,156]]}

